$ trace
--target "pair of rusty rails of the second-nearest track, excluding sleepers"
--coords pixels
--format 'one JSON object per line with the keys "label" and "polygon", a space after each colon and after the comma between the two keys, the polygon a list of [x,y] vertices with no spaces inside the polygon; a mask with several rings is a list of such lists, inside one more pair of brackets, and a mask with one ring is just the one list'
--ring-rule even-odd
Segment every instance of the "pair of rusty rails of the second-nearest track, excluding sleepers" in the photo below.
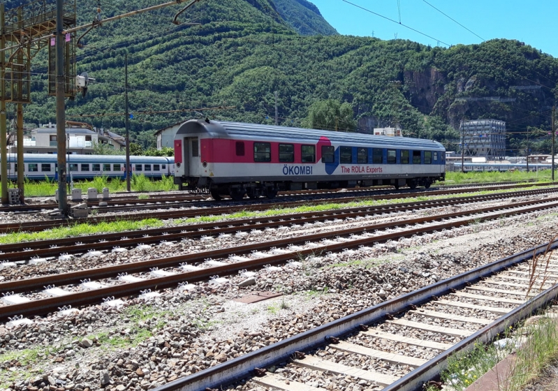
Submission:
{"label": "pair of rusty rails of the second-nearest track, excluding sleepers", "polygon": [[[555,201],[555,204],[550,205],[550,207],[558,207],[558,198],[555,198],[553,201]],[[515,204],[514,207],[529,206],[536,203],[540,204],[541,201],[520,202],[518,204]],[[549,205],[545,205],[545,207],[549,207]],[[478,211],[451,213],[451,214],[443,214],[439,216],[429,216],[421,219],[413,219],[407,221],[407,223],[409,224],[425,223],[425,222],[431,222],[431,221],[436,221],[441,219],[452,219],[455,217],[471,216],[472,214],[494,212],[495,210],[509,209],[509,208],[510,205],[495,207],[495,208],[488,207],[488,208],[478,209]],[[509,216],[513,214],[527,213],[538,209],[541,209],[541,205],[531,206],[524,209],[508,210],[506,212],[492,214],[490,216],[484,216],[480,220],[484,221],[490,219],[497,219],[503,215]],[[367,237],[364,239],[351,240],[351,242],[341,242],[338,244],[315,246],[309,249],[303,249],[300,251],[291,251],[290,253],[279,254],[277,256],[251,259],[251,260],[241,261],[241,262],[223,265],[223,266],[208,267],[193,272],[182,272],[182,273],[173,274],[171,276],[145,279],[144,281],[124,283],[117,286],[109,286],[107,288],[99,288],[96,290],[88,290],[85,292],[71,293],[63,297],[50,297],[50,298],[34,300],[22,304],[10,304],[10,305],[0,307],[0,318],[1,319],[8,318],[10,316],[15,316],[15,315],[37,315],[41,313],[47,313],[50,311],[56,311],[56,309],[64,305],[71,305],[72,307],[78,307],[85,304],[99,302],[103,300],[105,297],[112,297],[112,296],[122,297],[126,295],[135,294],[147,288],[166,288],[169,286],[176,286],[178,283],[181,283],[183,281],[204,281],[214,275],[228,275],[228,274],[234,274],[239,270],[253,270],[258,267],[262,267],[263,265],[274,265],[277,263],[286,262],[287,260],[298,258],[299,256],[309,256],[313,253],[316,253],[316,251],[318,252],[342,251],[343,249],[358,248],[359,246],[370,244],[373,242],[386,242],[390,239],[398,239],[400,237],[411,237],[412,235],[416,235],[420,233],[429,233],[429,232],[433,232],[445,228],[447,229],[447,228],[455,228],[458,226],[466,226],[469,223],[473,223],[478,220],[479,220],[478,218],[477,219],[470,218],[470,219],[462,219],[459,221],[451,221],[448,223],[441,223],[441,224],[437,224],[436,226],[422,226],[419,228],[414,228],[412,230],[399,231],[397,233],[387,233],[384,235],[377,235],[374,237]],[[397,224],[399,226],[401,225],[400,222]],[[328,237],[336,237],[339,235],[351,235],[353,233],[362,233],[363,231],[366,232],[370,228],[381,229],[381,228],[395,227],[397,226],[397,224],[384,223],[376,226],[349,228],[347,230],[338,231],[334,233],[323,233],[323,234],[308,235],[303,237],[279,239],[273,242],[256,243],[256,244],[249,244],[246,246],[237,246],[233,248],[207,251],[203,253],[192,253],[192,254],[186,254],[182,256],[159,258],[155,260],[146,260],[139,263],[121,264],[121,265],[114,265],[114,266],[97,268],[97,269],[80,270],[78,272],[68,272],[64,274],[42,276],[42,277],[37,277],[35,279],[6,281],[0,283],[0,292],[4,292],[4,293],[23,292],[23,291],[42,288],[43,286],[50,285],[50,284],[78,283],[83,279],[107,278],[111,276],[116,276],[117,274],[122,272],[142,272],[145,270],[149,270],[153,267],[170,267],[170,266],[176,266],[179,263],[202,262],[203,260],[210,257],[228,256],[231,253],[249,253],[250,251],[255,251],[260,249],[270,249],[273,246],[286,246],[289,244],[298,244],[307,241],[316,241],[320,239],[326,239]]]}

